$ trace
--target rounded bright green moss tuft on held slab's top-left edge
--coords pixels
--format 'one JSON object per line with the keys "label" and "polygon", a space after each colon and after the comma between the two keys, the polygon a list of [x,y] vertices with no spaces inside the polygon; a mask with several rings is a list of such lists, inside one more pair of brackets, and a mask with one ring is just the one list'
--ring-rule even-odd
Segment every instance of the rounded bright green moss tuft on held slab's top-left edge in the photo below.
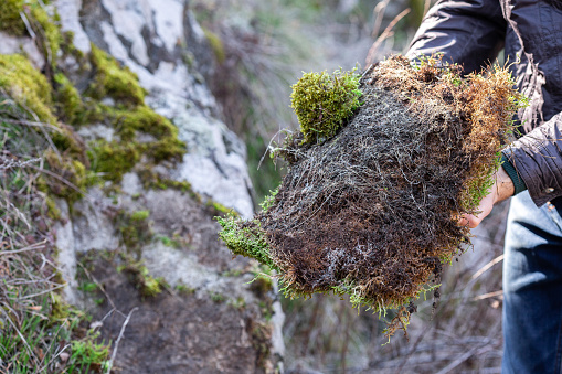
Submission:
{"label": "rounded bright green moss tuft on held slab's top-left edge", "polygon": [[293,85],[291,108],[297,114],[304,142],[322,142],[336,135],[359,108],[359,75],[337,71],[305,73]]}

